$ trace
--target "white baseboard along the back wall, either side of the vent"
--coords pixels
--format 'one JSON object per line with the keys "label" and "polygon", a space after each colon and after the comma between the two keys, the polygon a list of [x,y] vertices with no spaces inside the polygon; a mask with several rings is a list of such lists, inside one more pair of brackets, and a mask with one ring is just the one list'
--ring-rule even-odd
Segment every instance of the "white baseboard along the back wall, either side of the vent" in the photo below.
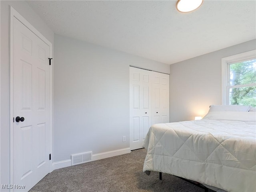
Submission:
{"label": "white baseboard along the back wall, either side of the vent", "polygon": [[[114,157],[117,155],[124,155],[126,153],[131,153],[130,148],[118,149],[118,150],[114,150],[114,151],[107,151],[104,153],[97,153],[97,154],[92,155],[92,161],[105,159],[108,157]],[[69,166],[71,166],[71,159],[67,159],[64,161],[57,161],[57,162],[52,163],[52,170],[69,167]]]}

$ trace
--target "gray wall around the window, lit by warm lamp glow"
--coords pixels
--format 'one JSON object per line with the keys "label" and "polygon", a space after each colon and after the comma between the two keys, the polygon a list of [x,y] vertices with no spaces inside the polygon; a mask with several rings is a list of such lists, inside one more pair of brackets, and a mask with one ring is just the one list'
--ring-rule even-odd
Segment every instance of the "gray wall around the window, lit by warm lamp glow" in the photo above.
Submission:
{"label": "gray wall around the window, lit by warm lamp glow", "polygon": [[220,105],[221,58],[253,49],[256,39],[170,65],[170,121],[193,120]]}

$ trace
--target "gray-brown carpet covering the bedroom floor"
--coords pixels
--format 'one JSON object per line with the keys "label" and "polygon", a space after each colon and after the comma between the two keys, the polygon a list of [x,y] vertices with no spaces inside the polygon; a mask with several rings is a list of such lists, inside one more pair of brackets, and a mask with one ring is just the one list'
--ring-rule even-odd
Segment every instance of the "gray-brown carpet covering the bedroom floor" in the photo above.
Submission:
{"label": "gray-brown carpet covering the bedroom floor", "polygon": [[[46,175],[30,192],[204,192],[180,178],[142,172],[146,149],[60,168]],[[209,190],[209,192],[213,192]]]}

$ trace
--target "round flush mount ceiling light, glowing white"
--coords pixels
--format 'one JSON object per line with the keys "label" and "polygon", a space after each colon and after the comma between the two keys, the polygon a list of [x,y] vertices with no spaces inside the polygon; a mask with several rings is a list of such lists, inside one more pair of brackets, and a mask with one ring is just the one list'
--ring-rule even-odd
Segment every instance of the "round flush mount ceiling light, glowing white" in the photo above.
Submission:
{"label": "round flush mount ceiling light, glowing white", "polygon": [[196,10],[203,4],[203,0],[178,0],[176,8],[179,12],[187,13]]}

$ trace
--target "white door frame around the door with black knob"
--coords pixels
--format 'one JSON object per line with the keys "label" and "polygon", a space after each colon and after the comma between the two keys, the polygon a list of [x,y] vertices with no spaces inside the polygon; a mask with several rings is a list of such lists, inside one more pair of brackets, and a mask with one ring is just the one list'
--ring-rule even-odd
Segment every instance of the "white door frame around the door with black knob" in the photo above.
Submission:
{"label": "white door frame around the door with black knob", "polygon": [[[25,18],[23,18],[14,8],[10,7],[10,184],[14,184],[14,159],[13,159],[13,143],[14,143],[14,138],[13,138],[13,118],[14,118],[14,113],[13,113],[13,78],[14,78],[14,69],[13,69],[13,55],[14,55],[14,46],[13,46],[13,41],[14,41],[14,34],[13,34],[13,25],[14,25],[14,17],[18,19],[22,24],[24,24],[30,31],[32,31],[34,34],[36,34],[44,43],[49,45],[50,47],[50,58],[52,58],[52,43],[48,41],[35,27],[33,27]],[[52,61],[53,64],[53,61]],[[52,154],[52,67],[50,67],[50,153]],[[50,172],[52,172],[52,161],[50,161],[50,167],[49,167]]]}

